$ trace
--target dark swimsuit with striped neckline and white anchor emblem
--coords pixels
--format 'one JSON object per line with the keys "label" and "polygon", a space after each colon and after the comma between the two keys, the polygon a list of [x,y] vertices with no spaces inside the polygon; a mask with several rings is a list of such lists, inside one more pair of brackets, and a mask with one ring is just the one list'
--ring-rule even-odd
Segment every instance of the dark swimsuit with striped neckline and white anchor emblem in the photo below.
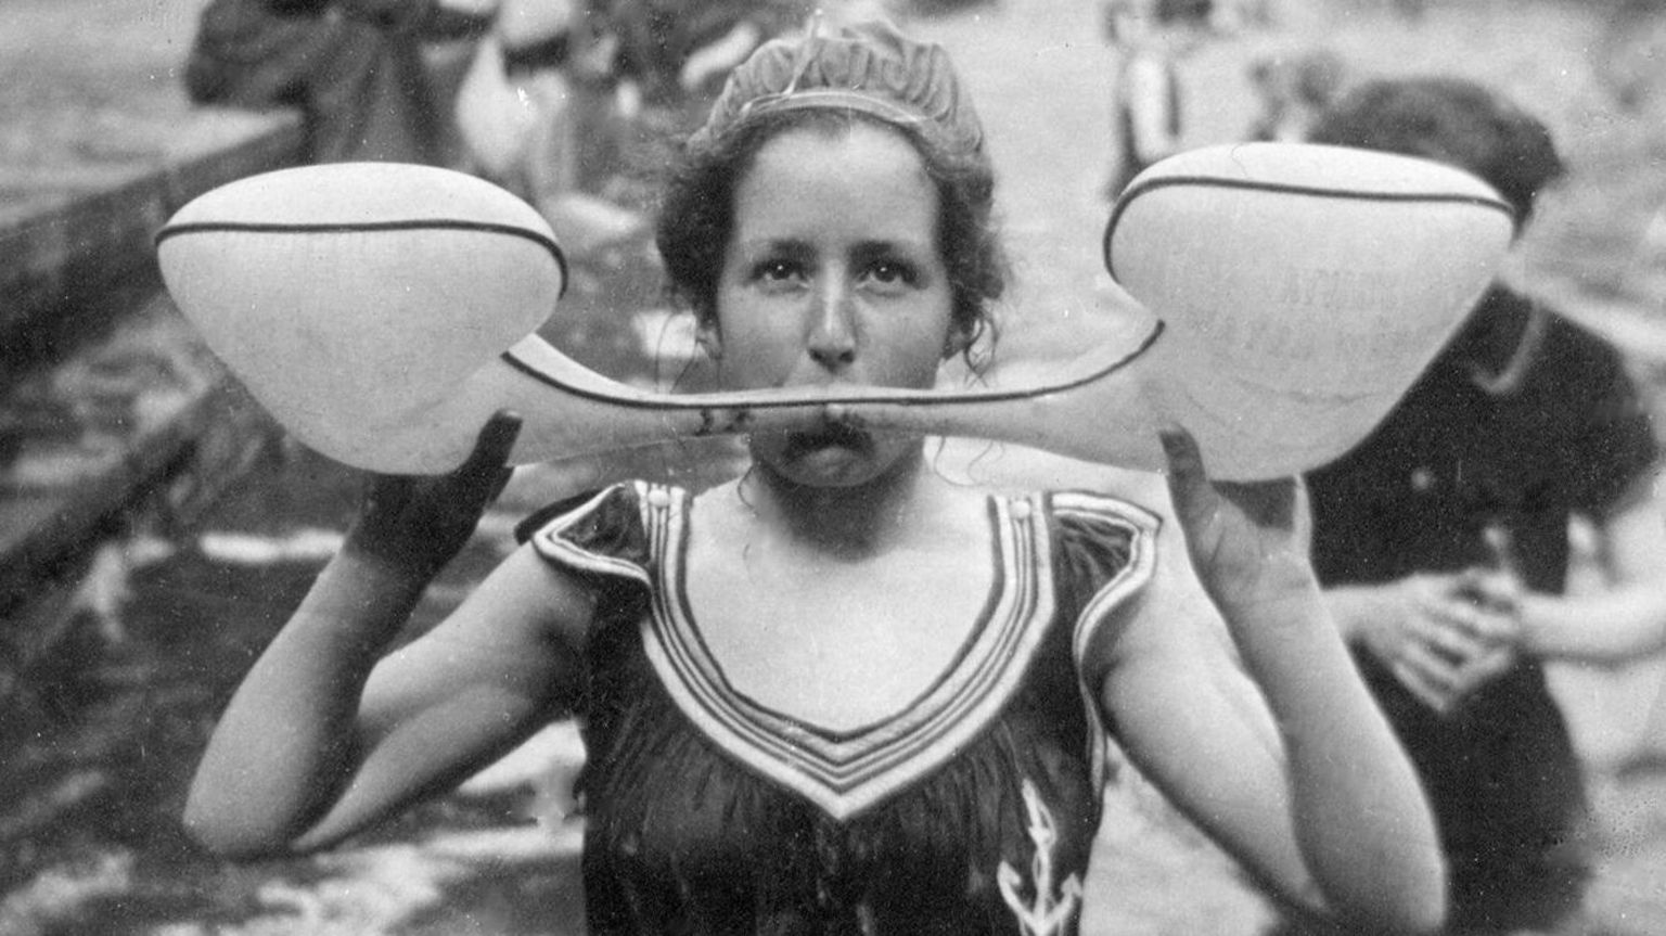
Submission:
{"label": "dark swimsuit with striped neckline and white anchor emblem", "polygon": [[1105,763],[1078,663],[1150,580],[1156,518],[990,498],[995,585],[956,656],[905,709],[831,731],[725,680],[683,591],[690,503],[620,485],[530,538],[598,595],[590,933],[1076,933]]}

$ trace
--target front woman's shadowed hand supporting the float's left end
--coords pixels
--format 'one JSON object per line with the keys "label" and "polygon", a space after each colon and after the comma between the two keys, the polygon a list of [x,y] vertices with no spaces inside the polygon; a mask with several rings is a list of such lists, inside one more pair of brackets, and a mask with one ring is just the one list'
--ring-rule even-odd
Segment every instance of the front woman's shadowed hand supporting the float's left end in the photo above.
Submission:
{"label": "front woman's shadowed hand supporting the float's left end", "polygon": [[518,415],[493,413],[468,458],[446,475],[368,475],[345,550],[423,581],[433,578],[508,483],[520,428]]}

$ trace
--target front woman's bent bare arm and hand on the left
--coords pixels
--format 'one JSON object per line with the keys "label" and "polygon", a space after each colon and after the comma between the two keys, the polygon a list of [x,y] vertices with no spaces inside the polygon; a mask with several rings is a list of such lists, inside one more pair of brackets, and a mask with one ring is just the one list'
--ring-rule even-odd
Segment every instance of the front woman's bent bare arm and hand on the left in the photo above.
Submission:
{"label": "front woman's bent bare arm and hand on the left", "polygon": [[560,706],[588,595],[528,550],[383,658],[501,486],[513,435],[493,420],[456,473],[372,486],[210,738],[185,808],[203,844],[233,856],[330,844],[485,766]]}

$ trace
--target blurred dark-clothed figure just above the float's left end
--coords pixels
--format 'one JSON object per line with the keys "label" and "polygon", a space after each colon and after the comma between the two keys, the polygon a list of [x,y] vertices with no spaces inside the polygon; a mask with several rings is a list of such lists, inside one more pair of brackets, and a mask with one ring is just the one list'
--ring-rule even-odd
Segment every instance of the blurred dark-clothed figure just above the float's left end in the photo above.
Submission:
{"label": "blurred dark-clothed figure just above the float's left end", "polygon": [[495,0],[210,0],[185,63],[200,105],[297,108],[312,162],[460,158],[450,100]]}

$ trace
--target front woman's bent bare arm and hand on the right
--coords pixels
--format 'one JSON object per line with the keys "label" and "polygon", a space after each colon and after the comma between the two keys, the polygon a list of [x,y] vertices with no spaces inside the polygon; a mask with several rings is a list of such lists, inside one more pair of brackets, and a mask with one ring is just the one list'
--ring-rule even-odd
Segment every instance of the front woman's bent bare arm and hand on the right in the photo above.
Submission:
{"label": "front woman's bent bare arm and hand on the right", "polygon": [[1160,558],[1103,686],[1130,754],[1284,899],[1349,924],[1434,929],[1433,818],[1319,601],[1298,490],[1211,488],[1190,440],[1165,441],[1193,565],[1241,660],[1198,625],[1215,610],[1175,586],[1180,561]]}

